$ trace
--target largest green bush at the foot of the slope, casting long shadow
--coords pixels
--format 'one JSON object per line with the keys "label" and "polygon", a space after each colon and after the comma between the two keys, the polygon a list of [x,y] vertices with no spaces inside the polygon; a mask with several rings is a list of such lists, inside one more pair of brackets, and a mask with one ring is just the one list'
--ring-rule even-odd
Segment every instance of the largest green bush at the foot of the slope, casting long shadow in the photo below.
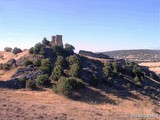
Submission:
{"label": "largest green bush at the foot of the slope, casting long shadow", "polygon": [[82,87],[84,87],[82,80],[78,79],[78,78],[65,78],[65,77],[61,77],[56,86],[53,87],[53,91],[65,96],[70,97],[70,95],[72,94],[72,92],[75,92],[79,89],[81,89]]}

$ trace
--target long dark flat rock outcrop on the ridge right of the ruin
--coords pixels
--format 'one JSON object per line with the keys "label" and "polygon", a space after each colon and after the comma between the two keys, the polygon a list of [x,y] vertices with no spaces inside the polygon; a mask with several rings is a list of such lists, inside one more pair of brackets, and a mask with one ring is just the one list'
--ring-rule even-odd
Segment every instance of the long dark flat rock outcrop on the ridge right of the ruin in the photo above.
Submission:
{"label": "long dark flat rock outcrop on the ridge right of the ruin", "polygon": [[103,58],[103,59],[109,59],[108,55],[102,54],[102,53],[93,53],[90,51],[84,51],[84,50],[80,50],[79,55],[84,55],[84,56],[90,56],[90,57],[94,57],[94,58]]}

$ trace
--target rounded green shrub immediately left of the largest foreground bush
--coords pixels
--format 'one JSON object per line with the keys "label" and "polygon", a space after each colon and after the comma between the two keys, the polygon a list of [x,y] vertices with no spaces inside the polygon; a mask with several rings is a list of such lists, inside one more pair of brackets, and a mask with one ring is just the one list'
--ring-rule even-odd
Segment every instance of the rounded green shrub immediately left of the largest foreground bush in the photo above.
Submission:
{"label": "rounded green shrub immediately left of the largest foreground bush", "polygon": [[48,75],[39,75],[36,79],[36,84],[38,86],[47,86],[50,84],[50,80],[48,78]]}

